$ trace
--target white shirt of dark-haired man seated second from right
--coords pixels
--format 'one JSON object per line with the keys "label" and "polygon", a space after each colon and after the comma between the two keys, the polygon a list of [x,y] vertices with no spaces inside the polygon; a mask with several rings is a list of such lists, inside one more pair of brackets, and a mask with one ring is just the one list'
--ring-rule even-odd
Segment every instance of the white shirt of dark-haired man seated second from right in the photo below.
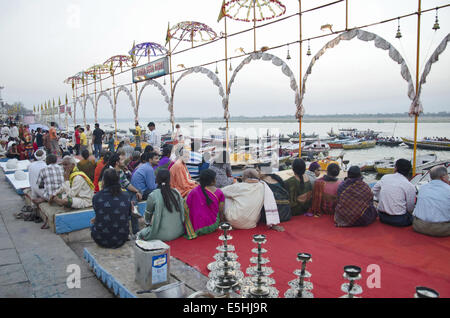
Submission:
{"label": "white shirt of dark-haired man seated second from right", "polygon": [[390,215],[403,215],[414,210],[416,188],[400,173],[388,174],[372,188],[378,198],[378,211]]}

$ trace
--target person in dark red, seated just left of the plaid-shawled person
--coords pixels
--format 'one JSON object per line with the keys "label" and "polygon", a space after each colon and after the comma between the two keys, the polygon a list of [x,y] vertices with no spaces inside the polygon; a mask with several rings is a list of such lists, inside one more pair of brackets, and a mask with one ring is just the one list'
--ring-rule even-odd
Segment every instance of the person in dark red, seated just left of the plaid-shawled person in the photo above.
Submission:
{"label": "person in dark red, seated just left of the plaid-shawled person", "polygon": [[317,179],[314,185],[311,212],[319,217],[322,214],[334,214],[337,204],[337,190],[342,181],[337,179],[340,168],[332,163],[327,167],[327,174]]}

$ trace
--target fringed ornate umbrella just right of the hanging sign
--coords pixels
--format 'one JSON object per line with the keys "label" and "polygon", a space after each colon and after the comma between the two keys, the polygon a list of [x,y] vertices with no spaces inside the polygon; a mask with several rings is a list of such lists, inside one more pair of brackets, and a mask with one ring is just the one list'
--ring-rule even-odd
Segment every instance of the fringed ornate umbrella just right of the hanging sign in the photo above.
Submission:
{"label": "fringed ornate umbrella just right of the hanging sign", "polygon": [[217,33],[204,23],[195,21],[184,21],[177,23],[169,30],[170,38],[180,41],[207,42],[217,38]]}

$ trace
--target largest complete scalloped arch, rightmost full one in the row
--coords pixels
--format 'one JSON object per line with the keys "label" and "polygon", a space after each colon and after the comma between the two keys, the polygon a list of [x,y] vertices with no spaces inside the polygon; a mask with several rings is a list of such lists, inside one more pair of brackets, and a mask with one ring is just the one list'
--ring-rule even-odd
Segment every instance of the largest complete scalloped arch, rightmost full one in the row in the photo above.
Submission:
{"label": "largest complete scalloped arch, rightmost full one in the row", "polygon": [[[348,32],[344,32],[340,34],[338,37],[334,38],[327,44],[325,44],[322,49],[311,59],[311,63],[309,64],[308,69],[306,70],[305,75],[303,76],[303,86],[302,86],[302,94],[300,96],[300,107],[303,109],[303,99],[306,92],[306,81],[308,79],[308,76],[312,72],[312,67],[316,63],[316,61],[325,53],[326,50],[335,47],[339,44],[341,40],[352,40],[353,38],[357,38],[361,41],[374,41],[375,47],[383,50],[389,51],[389,57],[397,62],[398,64],[401,64],[401,75],[405,81],[408,83],[408,97],[413,101],[413,105],[418,104],[418,99],[416,100],[416,94],[414,89],[414,83],[412,81],[411,73],[409,71],[408,66],[406,65],[406,61],[403,59],[401,54],[394,48],[394,46],[383,39],[382,37],[378,36],[375,33],[363,31],[363,30],[351,30]],[[413,107],[413,106],[411,106]]]}

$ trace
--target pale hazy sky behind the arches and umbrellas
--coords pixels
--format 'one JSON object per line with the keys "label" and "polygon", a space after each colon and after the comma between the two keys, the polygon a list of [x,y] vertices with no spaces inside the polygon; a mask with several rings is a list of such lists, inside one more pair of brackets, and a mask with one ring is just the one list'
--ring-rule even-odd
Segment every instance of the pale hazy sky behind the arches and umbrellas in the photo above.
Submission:
{"label": "pale hazy sky behind the arches and umbrellas", "polygon": [[[284,16],[298,12],[297,0],[281,0],[286,6]],[[303,0],[302,10],[307,10],[331,0]],[[435,8],[449,1],[422,0],[422,9]],[[0,86],[3,100],[8,103],[21,101],[33,109],[49,99],[72,97],[70,85],[63,81],[92,65],[101,64],[108,58],[128,54],[133,42],[156,42],[165,44],[168,24],[174,26],[182,21],[197,21],[211,27],[217,34],[224,32],[224,20],[217,22],[222,0],[0,0]],[[389,18],[417,12],[416,0],[350,0],[348,27],[358,27]],[[282,17],[284,17],[282,16]],[[420,67],[450,31],[450,7],[438,12],[440,30],[432,30],[435,10],[424,13],[421,21]],[[280,17],[280,18],[282,18]],[[258,22],[257,25],[262,24]],[[321,25],[332,24],[333,30],[345,29],[345,1],[321,10],[302,15],[303,39],[329,34]],[[407,61],[415,81],[417,16],[400,20],[401,39],[396,39],[397,21],[371,26],[363,30],[376,33],[391,44]],[[250,29],[253,23],[227,19],[227,32],[232,34]],[[308,43],[303,43],[302,77],[311,58],[337,34],[310,41],[311,56],[306,55]],[[279,46],[299,39],[298,16],[256,30],[256,47]],[[238,56],[238,48],[245,52],[253,50],[253,31],[228,39],[228,57]],[[178,45],[177,45],[178,44]],[[174,54],[188,49],[188,42],[172,40]],[[286,59],[287,47],[269,50],[287,62],[297,83],[300,78],[299,45],[289,46],[292,57]],[[192,67],[210,63],[225,57],[223,40],[211,45],[175,54],[172,59],[174,71],[178,65]],[[243,60],[231,60],[233,70]],[[146,58],[141,60],[145,64]],[[206,66],[215,71],[216,64]],[[222,85],[225,87],[224,62],[217,65]],[[427,83],[422,89],[425,112],[449,111],[450,109],[450,50],[442,53],[433,65]],[[228,74],[228,79],[231,77]],[[174,76],[177,79],[181,73]],[[168,82],[168,77],[166,77]],[[163,78],[157,79],[161,84]],[[117,85],[130,84],[131,72],[116,77]],[[111,80],[102,83],[111,87]],[[140,84],[142,86],[142,84]],[[128,86],[130,87],[130,86]],[[170,91],[169,84],[165,89]],[[99,87],[97,87],[99,89]],[[134,89],[134,87],[133,87]],[[81,90],[78,91],[80,93]],[[89,87],[93,92],[93,86]],[[133,93],[134,95],[134,93]],[[295,116],[295,95],[288,77],[281,69],[264,61],[253,61],[236,76],[229,101],[233,116]],[[400,66],[392,61],[386,51],[377,49],[373,42],[357,39],[341,41],[329,49],[314,65],[306,82],[305,113],[398,113],[409,110],[407,83],[400,75]],[[81,118],[81,110],[77,118]],[[88,102],[87,117],[93,117]],[[202,74],[193,74],[180,81],[174,96],[175,117],[222,117],[222,101],[218,89]],[[117,100],[118,118],[133,118],[130,101],[125,94]],[[142,94],[139,116],[141,118],[167,118],[167,104],[160,92],[147,87]],[[98,104],[99,118],[112,118],[107,100]]]}

